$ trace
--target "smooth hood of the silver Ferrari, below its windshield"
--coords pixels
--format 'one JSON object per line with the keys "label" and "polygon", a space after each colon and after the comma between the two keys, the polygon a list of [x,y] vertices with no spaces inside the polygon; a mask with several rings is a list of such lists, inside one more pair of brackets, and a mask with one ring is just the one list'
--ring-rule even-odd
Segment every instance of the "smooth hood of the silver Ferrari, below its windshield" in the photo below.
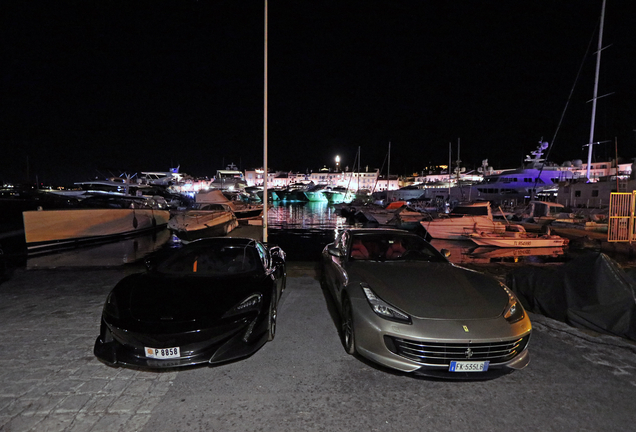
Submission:
{"label": "smooth hood of the silver Ferrari, below its windshield", "polygon": [[448,263],[355,262],[351,283],[366,282],[384,301],[416,318],[492,319],[508,294],[489,276]]}

